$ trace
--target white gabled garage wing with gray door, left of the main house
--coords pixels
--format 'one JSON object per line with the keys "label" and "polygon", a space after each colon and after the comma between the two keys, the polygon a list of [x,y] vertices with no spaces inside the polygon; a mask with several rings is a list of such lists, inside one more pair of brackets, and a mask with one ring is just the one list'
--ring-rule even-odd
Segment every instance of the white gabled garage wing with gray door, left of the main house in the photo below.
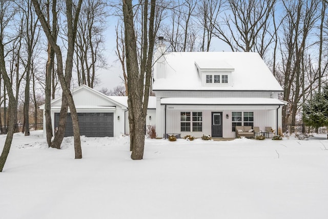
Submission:
{"label": "white gabled garage wing with gray door, left of the main house", "polygon": [[[85,136],[119,136],[129,134],[128,122],[128,97],[107,96],[86,85],[82,85],[72,91],[80,134]],[[155,125],[155,97],[150,97],[146,117],[146,125]],[[52,130],[58,126],[61,96],[51,101]],[[45,105],[39,107],[45,109]],[[44,136],[46,126],[44,118]],[[71,116],[68,115],[65,136],[73,135]]]}

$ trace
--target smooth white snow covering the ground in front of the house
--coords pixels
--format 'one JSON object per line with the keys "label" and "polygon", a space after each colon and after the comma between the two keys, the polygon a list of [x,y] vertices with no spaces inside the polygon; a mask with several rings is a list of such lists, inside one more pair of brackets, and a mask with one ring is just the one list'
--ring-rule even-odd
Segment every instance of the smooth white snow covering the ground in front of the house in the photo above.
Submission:
{"label": "smooth white snow covering the ground in front of the house", "polygon": [[[5,135],[0,136],[0,149]],[[0,173],[1,218],[328,218],[328,141],[73,138],[14,135]],[[279,154],[279,158],[278,158]]]}

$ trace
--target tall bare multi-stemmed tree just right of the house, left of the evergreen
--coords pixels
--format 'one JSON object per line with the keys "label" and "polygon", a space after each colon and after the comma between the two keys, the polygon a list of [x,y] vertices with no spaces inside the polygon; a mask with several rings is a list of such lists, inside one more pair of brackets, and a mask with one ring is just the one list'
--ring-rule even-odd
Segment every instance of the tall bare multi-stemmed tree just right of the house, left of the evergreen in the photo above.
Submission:
{"label": "tall bare multi-stemmed tree just right of the house, left of the evergreen", "polygon": [[[283,42],[281,45],[282,54],[282,74],[283,80],[283,99],[290,103],[289,106],[282,108],[283,124],[288,123],[291,116],[292,127],[296,123],[296,115],[300,108],[300,100],[307,88],[305,87],[306,70],[311,70],[311,66],[305,66],[307,51],[313,43],[309,42],[309,35],[314,29],[318,19],[317,1],[293,1],[283,2],[284,21]],[[318,78],[316,76],[316,78]],[[316,78],[312,78],[314,81]],[[309,82],[310,85],[314,81]],[[293,131],[293,130],[292,130]]]}

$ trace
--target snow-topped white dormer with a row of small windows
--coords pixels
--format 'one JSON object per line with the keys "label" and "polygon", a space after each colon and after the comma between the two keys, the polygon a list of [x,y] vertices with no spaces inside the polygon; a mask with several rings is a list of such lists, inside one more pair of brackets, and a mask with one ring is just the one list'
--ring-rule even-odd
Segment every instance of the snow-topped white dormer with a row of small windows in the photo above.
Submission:
{"label": "snow-topped white dormer with a row of small windows", "polygon": [[231,65],[222,60],[198,60],[195,62],[202,86],[232,86]]}

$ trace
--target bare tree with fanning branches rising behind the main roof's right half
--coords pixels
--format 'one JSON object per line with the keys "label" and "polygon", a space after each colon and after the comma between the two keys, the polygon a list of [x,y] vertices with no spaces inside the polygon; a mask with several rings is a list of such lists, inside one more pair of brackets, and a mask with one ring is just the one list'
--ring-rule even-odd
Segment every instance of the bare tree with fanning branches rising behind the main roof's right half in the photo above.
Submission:
{"label": "bare tree with fanning branches rising behind the main roof's right half", "polygon": [[214,25],[215,35],[232,51],[259,52],[264,55],[272,43],[269,19],[276,0],[228,0],[224,21]]}

